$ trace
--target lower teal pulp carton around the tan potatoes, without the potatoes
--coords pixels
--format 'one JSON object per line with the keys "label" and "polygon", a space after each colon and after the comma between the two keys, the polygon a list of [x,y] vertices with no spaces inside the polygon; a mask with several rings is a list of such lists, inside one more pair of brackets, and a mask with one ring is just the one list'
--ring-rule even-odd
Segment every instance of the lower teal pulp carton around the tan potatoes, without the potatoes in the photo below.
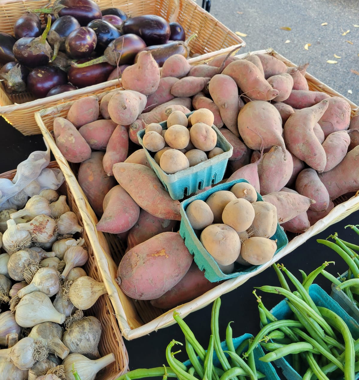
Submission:
{"label": "lower teal pulp carton around the tan potatoes, without the potatoes", "polygon": [[[225,182],[223,184],[214,186],[202,193],[191,196],[190,198],[185,199],[184,201],[181,202],[181,208],[180,208],[181,223],[180,223],[180,231],[179,231],[180,235],[185,241],[186,247],[188,248],[190,253],[193,255],[193,259],[195,260],[195,263],[198,265],[201,271],[204,271],[204,276],[210,282],[228,280],[242,274],[255,272],[255,271],[258,271],[258,269],[264,265],[264,264],[261,264],[261,265],[244,266],[236,262],[234,263],[234,271],[232,273],[228,273],[228,274],[223,273],[220,267],[218,266],[217,262],[214,260],[214,258],[203,247],[201,241],[199,240],[198,235],[196,234],[195,230],[193,230],[191,223],[188,220],[188,217],[186,215],[187,206],[192,201],[196,199],[201,199],[202,201],[206,201],[206,199],[211,194],[219,190],[230,190],[231,187],[238,182],[249,183],[245,179],[236,179],[230,182]],[[257,193],[257,201],[263,201],[263,198],[258,193]],[[275,234],[270,237],[270,239],[277,241],[277,250],[275,251],[274,255],[276,255],[281,249],[283,249],[288,244],[288,238],[278,223],[277,223],[277,230],[275,231]]]}

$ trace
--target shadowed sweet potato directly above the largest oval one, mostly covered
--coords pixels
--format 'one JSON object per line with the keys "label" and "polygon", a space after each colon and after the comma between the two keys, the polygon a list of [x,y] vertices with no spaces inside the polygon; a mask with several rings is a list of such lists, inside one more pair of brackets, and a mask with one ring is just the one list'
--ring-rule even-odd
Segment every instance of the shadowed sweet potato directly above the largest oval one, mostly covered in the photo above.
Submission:
{"label": "shadowed sweet potato directly above the largest oval one, mostly covered", "polygon": [[137,222],[127,235],[128,249],[162,232],[176,231],[176,226],[177,220],[158,218],[141,209]]}

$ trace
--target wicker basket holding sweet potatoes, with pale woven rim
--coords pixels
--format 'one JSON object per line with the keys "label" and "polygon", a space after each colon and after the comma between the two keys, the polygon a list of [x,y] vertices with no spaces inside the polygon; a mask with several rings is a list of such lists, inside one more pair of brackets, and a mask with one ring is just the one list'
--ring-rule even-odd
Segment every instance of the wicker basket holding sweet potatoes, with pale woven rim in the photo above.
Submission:
{"label": "wicker basket holding sweet potatoes, with pale woven rim", "polygon": [[[274,51],[258,51],[264,54],[271,54],[282,60],[288,66],[295,66],[289,60],[285,59],[282,55]],[[239,55],[239,57],[245,57],[247,54]],[[330,87],[326,86],[324,83],[318,81],[318,79],[313,76],[306,74],[306,78],[311,90],[326,92],[331,96],[343,97],[339,93],[335,92]],[[99,101],[105,93],[99,95]],[[357,110],[357,106],[348,100],[352,108],[352,116]],[[57,148],[55,141],[51,135],[52,124],[54,117],[62,116],[66,117],[67,111],[72,103],[65,103],[53,107],[50,109],[44,109],[41,112],[36,112],[35,119],[43,133],[44,138],[48,142],[52,153],[54,154],[60,168],[65,174],[66,179],[71,180],[73,188],[71,189],[74,196],[76,196],[76,202],[79,205],[80,212],[82,213],[82,219],[85,221],[85,228],[87,229],[87,234],[91,239],[91,244],[94,249],[94,253],[98,260],[100,258],[108,260],[108,270],[101,272],[106,286],[108,287],[108,293],[112,304],[114,306],[117,319],[119,321],[120,329],[122,335],[128,339],[134,339],[140,336],[149,334],[151,331],[157,330],[159,328],[164,328],[166,326],[172,325],[174,320],[172,318],[173,310],[164,311],[153,307],[149,301],[134,301],[133,299],[127,297],[119,288],[115,282],[115,274],[117,271],[117,265],[119,264],[121,257],[125,251],[125,247],[121,242],[116,239],[114,235],[103,234],[96,231],[94,225],[93,211],[84,197],[81,188],[78,186],[75,190],[76,179],[74,173],[76,173],[76,165],[72,165],[71,168],[68,162],[65,160],[60,150]],[[187,302],[181,306],[176,307],[176,310],[180,312],[182,317],[188,315],[189,313],[201,309],[213,302],[218,296],[237,288],[239,285],[243,284],[245,281],[258,274],[264,269],[268,268],[274,261],[280,260],[283,256],[292,252],[294,249],[299,247],[302,243],[307,241],[311,236],[323,231],[327,226],[342,220],[352,212],[359,209],[359,196],[353,197],[351,199],[344,199],[341,197],[336,201],[337,206],[323,219],[319,220],[315,225],[310,227],[305,233],[294,237],[288,245],[283,248],[275,258],[264,264],[258,271],[240,275],[236,278],[226,280],[212,290],[207,291],[202,296],[194,299],[193,301]],[[81,206],[81,207],[80,207]],[[88,212],[88,213],[87,213]],[[107,250],[109,246],[110,250]]]}

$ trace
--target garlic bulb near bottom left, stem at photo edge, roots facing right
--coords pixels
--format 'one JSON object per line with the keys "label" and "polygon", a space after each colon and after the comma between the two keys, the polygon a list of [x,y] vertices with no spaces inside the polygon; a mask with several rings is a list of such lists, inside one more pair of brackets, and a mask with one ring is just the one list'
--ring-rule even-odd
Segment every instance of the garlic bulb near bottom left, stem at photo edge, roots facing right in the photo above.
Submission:
{"label": "garlic bulb near bottom left, stem at photo edge, roots facing right", "polygon": [[46,356],[47,350],[43,344],[30,337],[22,338],[11,348],[0,350],[0,357],[7,357],[19,369],[30,369],[36,361],[43,360]]}

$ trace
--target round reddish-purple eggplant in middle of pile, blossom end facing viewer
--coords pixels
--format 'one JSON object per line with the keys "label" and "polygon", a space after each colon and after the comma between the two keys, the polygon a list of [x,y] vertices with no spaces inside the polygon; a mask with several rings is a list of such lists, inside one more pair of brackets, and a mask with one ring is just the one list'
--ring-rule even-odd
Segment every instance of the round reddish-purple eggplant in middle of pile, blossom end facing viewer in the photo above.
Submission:
{"label": "round reddish-purple eggplant in middle of pile, blossom end facing viewer", "polygon": [[88,58],[95,51],[96,43],[95,31],[82,26],[67,36],[65,41],[66,53],[73,59]]}

